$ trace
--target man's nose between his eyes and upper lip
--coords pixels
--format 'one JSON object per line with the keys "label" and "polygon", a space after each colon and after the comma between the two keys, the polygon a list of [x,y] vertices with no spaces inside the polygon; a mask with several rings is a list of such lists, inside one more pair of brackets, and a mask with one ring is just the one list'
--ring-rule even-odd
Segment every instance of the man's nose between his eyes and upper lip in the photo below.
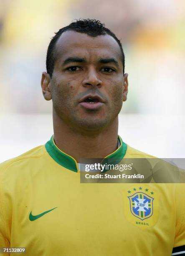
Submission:
{"label": "man's nose between his eyes and upper lip", "polygon": [[93,67],[89,68],[85,74],[85,77],[82,81],[82,84],[84,87],[89,87],[89,86],[98,86],[101,87],[102,81],[99,78],[99,75],[97,74],[96,69]]}

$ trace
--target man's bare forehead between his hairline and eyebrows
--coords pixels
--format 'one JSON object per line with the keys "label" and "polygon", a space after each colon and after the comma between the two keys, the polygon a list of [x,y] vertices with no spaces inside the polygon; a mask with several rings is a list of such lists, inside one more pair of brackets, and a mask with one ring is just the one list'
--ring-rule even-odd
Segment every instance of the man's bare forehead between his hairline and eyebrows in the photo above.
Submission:
{"label": "man's bare forehead between his hairline and eyebrows", "polygon": [[117,41],[108,34],[102,36],[88,36],[85,33],[66,31],[56,42],[55,56],[63,60],[70,56],[110,57],[122,62],[122,53]]}

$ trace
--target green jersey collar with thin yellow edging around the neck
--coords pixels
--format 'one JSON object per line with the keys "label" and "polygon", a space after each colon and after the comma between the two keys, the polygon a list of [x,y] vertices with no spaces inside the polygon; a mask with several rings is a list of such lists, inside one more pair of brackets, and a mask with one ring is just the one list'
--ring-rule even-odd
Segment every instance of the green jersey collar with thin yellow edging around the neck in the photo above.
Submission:
{"label": "green jersey collar with thin yellow edging around the neck", "polygon": [[[118,136],[120,146],[112,154],[109,154],[104,159],[114,161],[114,159],[121,161],[127,151],[127,144],[122,141],[122,138]],[[76,160],[68,154],[61,151],[55,144],[53,136],[45,145],[48,154],[61,166],[70,169],[73,172],[79,172],[78,164]]]}

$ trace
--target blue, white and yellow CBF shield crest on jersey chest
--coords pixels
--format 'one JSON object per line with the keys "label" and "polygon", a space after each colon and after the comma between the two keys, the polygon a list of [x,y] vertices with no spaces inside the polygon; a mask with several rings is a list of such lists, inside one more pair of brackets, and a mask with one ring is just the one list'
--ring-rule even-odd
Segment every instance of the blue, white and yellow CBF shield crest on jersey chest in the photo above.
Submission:
{"label": "blue, white and yellow CBF shield crest on jersey chest", "polygon": [[148,219],[153,215],[153,197],[142,191],[139,191],[129,196],[128,198],[132,215],[139,218],[140,220]]}

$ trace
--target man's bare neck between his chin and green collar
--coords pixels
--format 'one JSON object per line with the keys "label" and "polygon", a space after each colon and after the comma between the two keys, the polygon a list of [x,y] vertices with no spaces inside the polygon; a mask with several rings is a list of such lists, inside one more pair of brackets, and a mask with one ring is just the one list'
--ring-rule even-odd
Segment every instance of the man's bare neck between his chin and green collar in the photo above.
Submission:
{"label": "man's bare neck between his chin and green collar", "polygon": [[61,151],[80,159],[104,158],[117,149],[118,117],[108,128],[99,132],[74,130],[53,114],[54,141]]}

